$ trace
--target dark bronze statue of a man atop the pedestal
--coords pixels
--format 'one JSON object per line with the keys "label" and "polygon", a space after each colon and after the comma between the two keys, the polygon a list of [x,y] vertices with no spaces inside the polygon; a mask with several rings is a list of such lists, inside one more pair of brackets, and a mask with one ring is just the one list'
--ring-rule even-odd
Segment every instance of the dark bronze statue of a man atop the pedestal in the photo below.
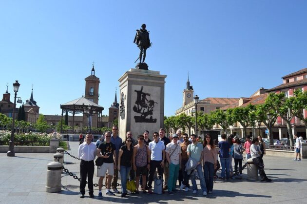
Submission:
{"label": "dark bronze statue of a man atop the pedestal", "polygon": [[146,50],[151,46],[150,40],[149,40],[149,32],[146,30],[146,24],[142,25],[142,28],[139,30],[136,30],[134,43],[137,44],[137,47],[140,48],[140,62],[142,62],[142,55],[143,55],[143,63],[146,58]]}

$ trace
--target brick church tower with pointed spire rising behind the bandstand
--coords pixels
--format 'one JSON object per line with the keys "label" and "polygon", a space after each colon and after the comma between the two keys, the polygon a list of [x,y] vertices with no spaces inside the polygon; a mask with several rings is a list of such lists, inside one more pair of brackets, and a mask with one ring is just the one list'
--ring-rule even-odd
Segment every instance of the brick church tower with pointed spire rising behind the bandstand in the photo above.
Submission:
{"label": "brick church tower with pointed spire rising behind the bandstand", "polygon": [[[95,102],[98,104],[98,98],[99,98],[99,83],[100,80],[98,77],[95,76],[95,68],[93,64],[93,68],[91,71],[91,75],[88,76],[85,80],[85,95],[84,98],[90,100],[91,102]],[[97,114],[92,114],[92,118],[90,119],[92,122],[92,127],[97,127],[97,121],[98,121],[98,115]],[[87,125],[88,122],[88,115],[83,114],[83,125]]]}

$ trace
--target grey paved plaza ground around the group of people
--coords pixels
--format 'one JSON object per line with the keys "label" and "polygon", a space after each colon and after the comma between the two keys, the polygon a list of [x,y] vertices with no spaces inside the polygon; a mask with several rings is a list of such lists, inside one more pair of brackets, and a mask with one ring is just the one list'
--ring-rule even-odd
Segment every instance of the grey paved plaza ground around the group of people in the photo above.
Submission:
{"label": "grey paved plaza ground around the group of people", "polygon": [[[68,151],[77,156],[78,142],[70,142],[71,150]],[[64,155],[65,168],[79,177],[79,161]],[[79,198],[79,182],[73,177],[62,174],[62,188],[58,193],[47,193],[45,191],[47,163],[53,161],[53,154],[42,153],[16,153],[15,157],[7,157],[6,153],[0,153],[0,203],[2,204],[73,204],[73,203],[307,203],[307,160],[295,162],[289,158],[265,156],[265,171],[272,183],[252,182],[246,179],[246,169],[243,171],[242,180],[231,180],[229,182],[216,181],[213,186],[213,194],[202,196],[189,192],[175,193],[171,196],[163,195],[131,195],[120,198],[116,196],[105,196],[100,201],[88,196]],[[96,173],[96,171],[95,171]],[[98,178],[94,177],[94,183]],[[120,181],[119,181],[120,182]],[[198,181],[197,181],[198,182]],[[191,182],[190,182],[191,184]],[[199,182],[198,182],[199,184]],[[200,186],[198,185],[200,188]],[[87,189],[87,187],[86,187]],[[98,187],[94,187],[97,196]]]}

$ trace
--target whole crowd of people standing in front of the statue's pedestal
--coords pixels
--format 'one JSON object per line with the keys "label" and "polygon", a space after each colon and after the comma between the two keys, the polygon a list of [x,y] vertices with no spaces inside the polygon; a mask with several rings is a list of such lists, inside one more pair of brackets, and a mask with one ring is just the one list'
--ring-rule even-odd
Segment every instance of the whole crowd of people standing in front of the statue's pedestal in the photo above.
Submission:
{"label": "whole crowd of people standing in front of the statue's pedestal", "polygon": [[[176,189],[176,183],[179,182],[180,190],[189,191],[189,180],[192,183],[192,192],[197,194],[198,188],[196,177],[200,181],[202,195],[212,193],[213,180],[217,170],[218,153],[222,167],[221,180],[229,180],[230,173],[233,174],[232,158],[234,158],[235,172],[242,168],[243,151],[246,151],[247,157],[251,157],[258,166],[262,181],[269,180],[263,170],[263,160],[261,155],[265,154],[259,147],[258,138],[252,142],[247,137],[244,148],[238,138],[221,136],[219,142],[219,152],[210,134],[206,134],[204,142],[200,143],[199,138],[192,134],[181,133],[180,130],[173,134],[173,137],[165,136],[165,130],[161,128],[159,132],[153,132],[153,141],[149,139],[149,132],[144,131],[143,135],[138,135],[137,141],[134,140],[131,131],[127,132],[126,139],[118,136],[118,127],[114,125],[112,132],[105,132],[103,137],[92,143],[93,136],[87,134],[85,142],[79,145],[78,157],[80,158],[80,198],[84,198],[86,178],[88,178],[88,188],[90,197],[93,194],[93,176],[94,159],[103,158],[103,163],[97,168],[98,198],[103,198],[101,188],[103,180],[106,178],[106,195],[115,195],[119,193],[117,186],[118,171],[121,175],[121,197],[127,194],[127,180],[133,179],[136,184],[136,194],[141,189],[144,194],[151,194],[153,177],[157,172],[160,178],[164,176],[163,190],[168,190],[169,195],[179,192]],[[261,139],[261,138],[260,138]],[[261,146],[261,145],[260,145]],[[249,155],[249,156],[248,156]],[[226,177],[225,177],[226,172]],[[242,175],[242,170],[240,174]],[[113,180],[113,181],[112,181]]]}

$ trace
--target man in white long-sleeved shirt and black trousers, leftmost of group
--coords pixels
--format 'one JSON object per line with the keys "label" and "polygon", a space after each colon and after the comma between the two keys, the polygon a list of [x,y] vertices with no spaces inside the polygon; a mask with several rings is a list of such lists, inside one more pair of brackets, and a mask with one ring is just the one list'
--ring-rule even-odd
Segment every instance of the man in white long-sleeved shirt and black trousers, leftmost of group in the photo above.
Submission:
{"label": "man in white long-sleeved shirt and black trousers, leftmost of group", "polygon": [[91,198],[94,198],[93,177],[94,177],[94,160],[96,157],[96,145],[92,143],[92,134],[85,136],[85,142],[79,145],[78,158],[80,158],[80,198],[84,198],[86,177],[88,178],[88,188]]}

